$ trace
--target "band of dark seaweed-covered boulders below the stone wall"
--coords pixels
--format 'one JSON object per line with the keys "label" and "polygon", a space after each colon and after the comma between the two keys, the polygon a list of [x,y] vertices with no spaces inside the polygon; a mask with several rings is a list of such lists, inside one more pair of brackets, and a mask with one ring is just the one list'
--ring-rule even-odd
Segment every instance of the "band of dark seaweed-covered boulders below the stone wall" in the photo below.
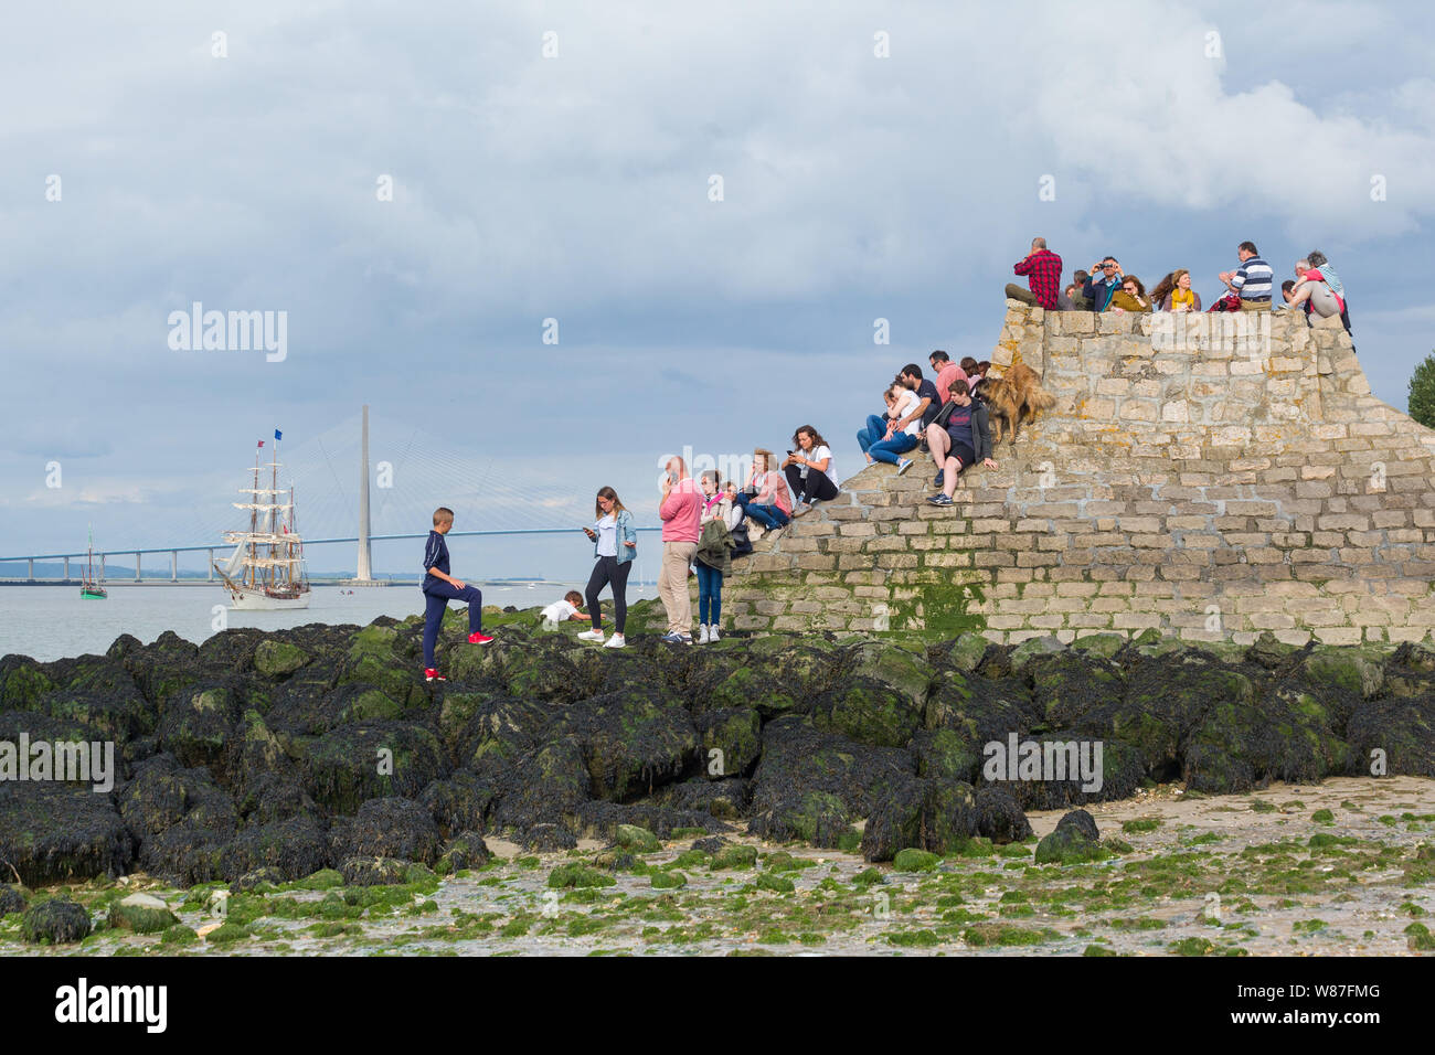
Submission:
{"label": "band of dark seaweed-covered boulders below the stone wall", "polygon": [[[756,837],[887,863],[1020,844],[1026,811],[1152,784],[1435,777],[1429,644],[792,634],[614,652],[535,611],[494,610],[486,647],[461,623],[441,642],[446,683],[422,679],[419,619],[6,656],[0,742],[112,741],[118,774],[108,792],[0,784],[0,867],[30,888],[145,873],[243,891],[321,871],[362,887],[481,866],[485,837],[525,853]],[[987,779],[989,745],[1029,739],[1099,742],[1099,789]],[[1063,822],[1046,860],[1089,860],[1089,820]]]}

